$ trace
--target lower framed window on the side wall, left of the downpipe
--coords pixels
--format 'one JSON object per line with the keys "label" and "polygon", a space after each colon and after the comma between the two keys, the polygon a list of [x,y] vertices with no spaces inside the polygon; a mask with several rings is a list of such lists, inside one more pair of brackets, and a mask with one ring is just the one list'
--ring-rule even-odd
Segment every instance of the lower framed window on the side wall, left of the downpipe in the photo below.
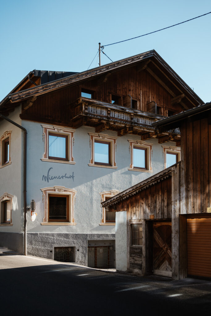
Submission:
{"label": "lower framed window on the side wall, left of the downpipe", "polygon": [[12,226],[12,199],[13,195],[5,192],[0,197],[0,226]]}

